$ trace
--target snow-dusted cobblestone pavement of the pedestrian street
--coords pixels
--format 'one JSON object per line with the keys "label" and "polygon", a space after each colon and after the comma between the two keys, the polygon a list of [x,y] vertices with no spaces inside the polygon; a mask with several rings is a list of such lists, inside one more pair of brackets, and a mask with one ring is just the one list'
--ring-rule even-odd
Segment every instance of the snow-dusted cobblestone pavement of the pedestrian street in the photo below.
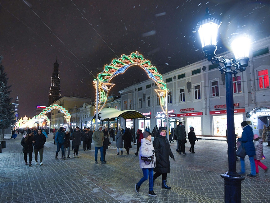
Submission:
{"label": "snow-dusted cobblestone pavement of the pedestrian street", "polygon": [[[159,177],[154,186],[157,197],[151,197],[148,196],[148,181],[142,184],[139,194],[134,189],[135,183],[142,178],[138,157],[134,155],[136,145],[132,145],[129,155],[125,150],[123,155],[116,155],[115,142],[112,142],[106,154],[107,164],[100,161],[95,164],[93,145],[90,151],[83,151],[81,145],[79,158],[56,160],[56,145],[49,134],[44,147],[44,165],[29,167],[24,165],[21,137],[9,138],[10,135],[5,136],[6,148],[0,153],[0,202],[3,203],[224,202],[224,181],[220,174],[228,170],[226,141],[199,140],[195,154],[189,152],[187,142],[187,155],[176,153],[176,142],[172,143],[175,161],[170,159],[171,173],[167,177],[172,189],[162,189]],[[265,145],[266,159],[262,162],[270,167],[270,148]],[[61,152],[59,155],[61,157]],[[247,158],[245,163],[250,173]],[[236,165],[239,172],[240,161]],[[259,168],[256,178],[246,177],[242,181],[242,202],[270,202],[269,184],[270,171],[264,173]]]}

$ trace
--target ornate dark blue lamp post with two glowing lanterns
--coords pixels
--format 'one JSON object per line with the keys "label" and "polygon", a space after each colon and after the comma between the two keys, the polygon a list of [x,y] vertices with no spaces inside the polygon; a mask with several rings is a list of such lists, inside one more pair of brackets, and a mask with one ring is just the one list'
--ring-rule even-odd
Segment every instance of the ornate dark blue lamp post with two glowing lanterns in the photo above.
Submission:
{"label": "ornate dark blue lamp post with two glowing lanterns", "polygon": [[[225,59],[223,56],[216,57],[216,41],[221,21],[210,17],[211,14],[209,14],[208,8],[206,12],[208,18],[198,22],[196,31],[200,34],[205,58],[212,64],[219,64],[219,71],[221,74],[225,74],[229,171],[221,174],[221,177],[224,178],[225,186],[224,202],[241,203],[241,181],[244,180],[245,177],[236,172],[232,74],[236,76],[236,74],[238,74],[237,71],[243,72],[248,66],[251,36],[238,33],[230,40],[236,60]],[[240,32],[240,29],[237,31]],[[234,70],[232,68],[234,68]]]}

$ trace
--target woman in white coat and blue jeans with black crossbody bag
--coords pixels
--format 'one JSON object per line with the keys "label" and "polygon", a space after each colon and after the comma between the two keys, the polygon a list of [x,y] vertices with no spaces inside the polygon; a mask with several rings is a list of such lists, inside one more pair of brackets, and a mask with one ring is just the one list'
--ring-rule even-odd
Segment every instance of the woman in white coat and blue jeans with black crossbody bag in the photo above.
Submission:
{"label": "woman in white coat and blue jeans with black crossbody bag", "polygon": [[[149,191],[148,195],[156,197],[156,194],[153,191],[153,175],[154,175],[154,168],[155,168],[155,149],[151,142],[151,133],[144,131],[143,132],[143,139],[141,140],[141,150],[139,155],[140,160],[140,168],[142,168],[143,177],[141,180],[135,184],[135,190],[137,193],[140,192],[140,187],[144,181],[146,181],[149,177]],[[149,161],[144,161],[141,157],[151,157]]]}

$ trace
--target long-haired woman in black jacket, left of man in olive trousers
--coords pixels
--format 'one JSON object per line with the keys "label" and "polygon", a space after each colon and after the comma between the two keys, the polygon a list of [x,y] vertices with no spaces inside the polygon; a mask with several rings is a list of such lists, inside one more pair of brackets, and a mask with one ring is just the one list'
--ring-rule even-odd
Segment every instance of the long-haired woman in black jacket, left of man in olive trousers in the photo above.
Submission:
{"label": "long-haired woman in black jacket, left of man in olive trousers", "polygon": [[24,159],[25,159],[25,165],[28,165],[27,163],[27,154],[29,155],[29,166],[32,166],[32,154],[33,154],[33,133],[31,130],[27,130],[27,134],[23,136],[20,144],[23,146],[23,153],[24,153]]}

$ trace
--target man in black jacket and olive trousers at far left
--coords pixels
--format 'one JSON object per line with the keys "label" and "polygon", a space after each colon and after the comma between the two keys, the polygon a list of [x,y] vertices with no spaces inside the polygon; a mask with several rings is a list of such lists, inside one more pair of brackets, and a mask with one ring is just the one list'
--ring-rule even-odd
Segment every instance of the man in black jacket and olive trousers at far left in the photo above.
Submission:
{"label": "man in black jacket and olive trousers at far left", "polygon": [[37,134],[34,135],[33,143],[34,143],[34,152],[35,152],[35,165],[38,165],[38,152],[39,152],[39,159],[40,159],[40,166],[43,165],[43,150],[44,144],[46,142],[45,135],[41,132],[41,129],[38,129]]}

